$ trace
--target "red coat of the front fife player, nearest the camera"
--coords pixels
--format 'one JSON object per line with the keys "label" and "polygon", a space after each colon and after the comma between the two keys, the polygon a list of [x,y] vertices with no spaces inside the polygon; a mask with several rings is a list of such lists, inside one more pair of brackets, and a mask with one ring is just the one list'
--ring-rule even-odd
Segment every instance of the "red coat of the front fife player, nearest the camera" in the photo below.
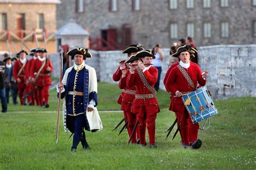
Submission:
{"label": "red coat of the front fife player, nearest the camera", "polygon": [[[154,84],[156,84],[157,77],[158,77],[157,68],[151,66],[149,70],[146,70],[144,72],[144,75],[147,79],[147,82],[149,82],[149,84],[154,88]],[[151,94],[150,90],[147,89],[146,86],[144,86],[142,80],[139,77],[137,70],[135,70],[133,74],[129,72],[129,76],[127,78],[126,84],[128,88],[136,86],[136,95]],[[156,97],[150,98],[150,99],[140,99],[140,98],[134,99],[131,111],[134,113],[139,113],[142,107],[146,107],[147,114],[149,115],[156,114],[160,111]]]}

